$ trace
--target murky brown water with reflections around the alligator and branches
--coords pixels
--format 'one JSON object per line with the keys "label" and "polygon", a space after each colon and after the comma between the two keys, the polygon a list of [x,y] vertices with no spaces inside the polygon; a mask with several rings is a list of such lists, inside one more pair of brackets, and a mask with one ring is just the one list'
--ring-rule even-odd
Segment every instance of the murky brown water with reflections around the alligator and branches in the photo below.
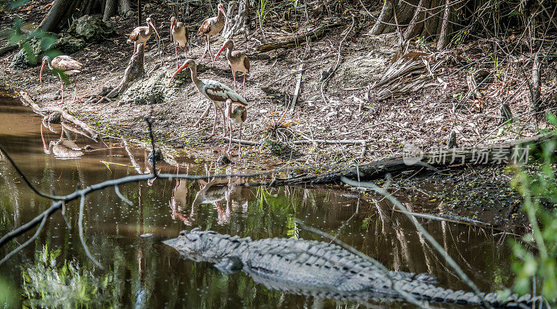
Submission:
{"label": "murky brown water with reflections around the alligator and branches", "polygon": [[[60,124],[42,126],[41,117],[19,102],[0,99],[0,144],[40,190],[68,194],[108,179],[150,171],[148,151],[120,141],[93,140]],[[92,151],[82,150],[91,145]],[[178,163],[178,164],[176,164]],[[178,165],[178,167],[176,166]],[[177,158],[162,162],[161,172],[207,172],[210,162]],[[86,197],[84,235],[88,247],[104,266],[94,267],[79,242],[79,203],[69,203],[65,219],[57,212],[37,240],[0,266],[0,287],[10,288],[13,306],[72,308],[306,308],[358,306],[350,301],[319,300],[268,290],[242,272],[225,275],[205,262],[182,260],[163,244],[139,237],[153,233],[175,237],[199,227],[219,233],[322,240],[304,231],[293,219],[337,234],[386,267],[428,272],[441,285],[468,290],[445,266],[444,259],[425,243],[416,229],[384,201],[368,203],[357,192],[323,188],[241,187],[239,179],[129,183]],[[0,157],[0,235],[28,222],[50,206],[23,183]],[[425,206],[422,206],[425,207]],[[420,219],[428,231],[457,260],[481,290],[510,285],[510,249],[494,231],[464,224]],[[32,233],[0,249],[0,256],[22,244]],[[368,304],[368,303],[366,303]],[[372,303],[391,308],[404,303]],[[434,305],[444,306],[444,305]],[[447,306],[450,307],[450,306]]]}

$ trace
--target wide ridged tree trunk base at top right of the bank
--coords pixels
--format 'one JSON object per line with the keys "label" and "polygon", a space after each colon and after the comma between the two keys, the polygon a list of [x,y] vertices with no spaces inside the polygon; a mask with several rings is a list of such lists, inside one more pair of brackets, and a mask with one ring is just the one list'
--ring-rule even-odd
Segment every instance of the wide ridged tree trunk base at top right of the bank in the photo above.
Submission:
{"label": "wide ridged tree trunk base at top right of the bank", "polygon": [[405,40],[417,36],[433,38],[439,40],[437,49],[443,49],[450,41],[455,16],[449,0],[386,0],[370,33],[393,32],[398,25],[405,29]]}

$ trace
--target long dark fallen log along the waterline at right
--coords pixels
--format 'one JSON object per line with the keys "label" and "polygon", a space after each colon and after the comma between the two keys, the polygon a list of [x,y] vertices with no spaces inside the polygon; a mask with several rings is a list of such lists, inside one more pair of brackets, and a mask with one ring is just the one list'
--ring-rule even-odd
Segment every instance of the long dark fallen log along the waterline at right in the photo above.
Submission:
{"label": "long dark fallen log along the waterline at right", "polygon": [[489,144],[483,147],[439,149],[427,153],[405,151],[407,154],[404,156],[378,160],[358,165],[357,167],[349,167],[323,174],[282,179],[275,181],[274,185],[340,183],[341,177],[350,179],[360,178],[362,181],[369,181],[382,178],[386,174],[415,172],[424,168],[436,170],[438,167],[464,167],[466,165],[526,164],[528,162],[529,151],[549,140],[557,140],[557,133],[546,133],[521,140]]}

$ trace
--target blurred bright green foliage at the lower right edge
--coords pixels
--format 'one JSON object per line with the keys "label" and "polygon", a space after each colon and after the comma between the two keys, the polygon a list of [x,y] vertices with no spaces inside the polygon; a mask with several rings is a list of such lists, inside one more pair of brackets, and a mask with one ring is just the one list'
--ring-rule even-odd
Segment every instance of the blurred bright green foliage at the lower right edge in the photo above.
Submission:
{"label": "blurred bright green foliage at the lower right edge", "polygon": [[[557,123],[554,115],[548,117]],[[540,165],[528,172],[517,169],[512,185],[522,194],[522,208],[528,216],[532,232],[522,242],[512,241],[512,270],[517,277],[513,289],[519,294],[541,294],[545,299],[557,298],[557,184],[554,155],[557,143],[542,146]],[[525,244],[528,244],[526,247]],[[529,248],[534,247],[532,251]],[[532,290],[532,281],[539,281]]]}

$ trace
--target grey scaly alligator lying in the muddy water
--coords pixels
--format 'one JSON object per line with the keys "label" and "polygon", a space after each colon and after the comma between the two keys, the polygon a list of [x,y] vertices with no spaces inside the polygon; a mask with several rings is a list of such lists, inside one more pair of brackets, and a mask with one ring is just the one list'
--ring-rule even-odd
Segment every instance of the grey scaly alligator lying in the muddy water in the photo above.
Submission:
{"label": "grey scaly alligator lying in the muddy water", "polygon": [[270,289],[321,299],[404,301],[404,294],[409,294],[439,303],[480,306],[485,301],[494,307],[544,307],[541,297],[528,294],[500,300],[496,293],[444,289],[430,274],[386,271],[336,244],[316,240],[251,240],[194,228],[163,243],[184,258],[212,262],[225,274],[242,271]]}

